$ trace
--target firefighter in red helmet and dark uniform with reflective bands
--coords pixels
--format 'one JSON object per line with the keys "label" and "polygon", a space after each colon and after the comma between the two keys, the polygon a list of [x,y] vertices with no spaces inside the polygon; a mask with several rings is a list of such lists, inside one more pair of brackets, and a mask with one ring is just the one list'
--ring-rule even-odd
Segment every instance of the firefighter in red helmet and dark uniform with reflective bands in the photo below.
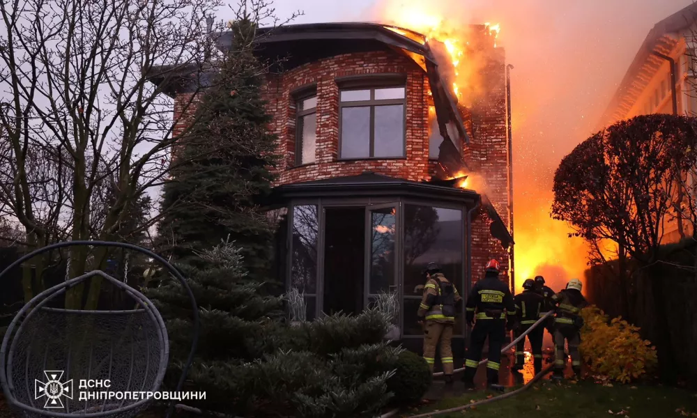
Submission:
{"label": "firefighter in red helmet and dark uniform with reflective bands", "polygon": [[[498,277],[500,265],[492,259],[485,268],[484,279],[472,286],[467,298],[467,323],[473,326],[470,349],[467,351],[465,372],[462,381],[467,389],[474,389],[477,366],[482,358],[484,341],[489,338],[489,362],[487,383],[490,389],[503,390],[498,385],[498,369],[501,364],[501,346],[505,342],[506,330],[516,324],[516,309],[508,286]],[[476,318],[476,322],[475,322]]]}

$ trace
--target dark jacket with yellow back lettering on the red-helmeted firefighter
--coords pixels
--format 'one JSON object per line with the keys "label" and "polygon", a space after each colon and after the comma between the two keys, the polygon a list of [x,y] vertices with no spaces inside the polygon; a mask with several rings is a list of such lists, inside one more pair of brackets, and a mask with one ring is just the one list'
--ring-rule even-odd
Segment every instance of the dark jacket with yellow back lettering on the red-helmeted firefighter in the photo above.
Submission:
{"label": "dark jacket with yellow back lettering on the red-helmeted firefighter", "polygon": [[513,295],[508,286],[500,281],[498,273],[487,272],[484,279],[472,286],[472,291],[467,298],[466,312],[468,323],[472,323],[475,317],[505,319],[508,316],[509,320],[515,320],[516,307]]}

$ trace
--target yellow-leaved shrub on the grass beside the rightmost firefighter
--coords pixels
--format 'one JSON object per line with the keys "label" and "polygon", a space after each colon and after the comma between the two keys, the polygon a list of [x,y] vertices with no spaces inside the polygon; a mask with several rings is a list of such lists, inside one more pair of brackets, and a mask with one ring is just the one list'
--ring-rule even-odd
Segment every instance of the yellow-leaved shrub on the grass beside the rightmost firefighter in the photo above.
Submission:
{"label": "yellow-leaved shrub on the grass beside the rightmost firefighter", "polygon": [[581,311],[581,355],[590,370],[608,380],[636,380],[657,365],[656,348],[639,336],[639,328],[622,318],[609,320],[597,307]]}

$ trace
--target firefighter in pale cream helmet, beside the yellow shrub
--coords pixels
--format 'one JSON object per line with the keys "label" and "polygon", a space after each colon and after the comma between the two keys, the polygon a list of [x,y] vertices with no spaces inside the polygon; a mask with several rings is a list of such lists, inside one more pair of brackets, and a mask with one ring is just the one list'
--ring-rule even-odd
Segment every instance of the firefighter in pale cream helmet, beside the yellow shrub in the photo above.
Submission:
{"label": "firefighter in pale cream helmet, beside the yellow shrub", "polygon": [[588,306],[585,297],[581,295],[581,280],[571,279],[567,287],[553,295],[551,300],[556,305],[556,315],[554,317],[554,345],[556,354],[554,357],[554,378],[561,379],[564,376],[564,364],[566,355],[564,353],[565,340],[569,343],[569,355],[571,355],[571,365],[576,377],[581,376],[581,355],[579,354],[579,344],[581,343],[581,327],[583,318],[581,309]]}

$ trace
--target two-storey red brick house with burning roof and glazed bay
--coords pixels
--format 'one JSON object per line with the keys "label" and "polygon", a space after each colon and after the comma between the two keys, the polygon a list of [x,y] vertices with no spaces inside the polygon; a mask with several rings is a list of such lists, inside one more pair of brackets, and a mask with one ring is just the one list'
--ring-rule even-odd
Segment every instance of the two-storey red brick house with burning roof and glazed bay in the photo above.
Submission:
{"label": "two-storey red brick house with burning roof and glazed bay", "polygon": [[[396,291],[401,337],[416,347],[415,288],[427,263],[440,263],[461,293],[487,259],[507,268],[505,61],[487,28],[474,29],[487,57],[486,93],[468,109],[444,88],[451,64],[436,62],[418,33],[336,23],[263,37],[261,58],[287,57],[265,93],[284,156],[269,203],[279,225],[277,272],[305,293],[309,318],[354,313]],[[229,36],[217,38],[220,49]],[[182,88],[171,95],[190,99]],[[459,173],[482,176],[487,195],[457,187]],[[455,334],[461,354],[461,319]]]}

